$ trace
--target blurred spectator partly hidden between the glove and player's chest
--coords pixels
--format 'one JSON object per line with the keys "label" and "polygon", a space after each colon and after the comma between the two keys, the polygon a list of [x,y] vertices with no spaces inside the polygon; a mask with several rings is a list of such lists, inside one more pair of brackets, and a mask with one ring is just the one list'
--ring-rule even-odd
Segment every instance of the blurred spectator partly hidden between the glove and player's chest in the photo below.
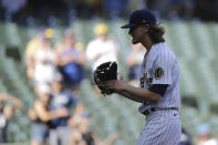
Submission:
{"label": "blurred spectator partly hidden between the glove and player's chest", "polygon": [[141,77],[141,62],[144,58],[146,49],[141,43],[133,44],[132,50],[127,53],[125,63],[128,66],[129,83],[137,86]]}

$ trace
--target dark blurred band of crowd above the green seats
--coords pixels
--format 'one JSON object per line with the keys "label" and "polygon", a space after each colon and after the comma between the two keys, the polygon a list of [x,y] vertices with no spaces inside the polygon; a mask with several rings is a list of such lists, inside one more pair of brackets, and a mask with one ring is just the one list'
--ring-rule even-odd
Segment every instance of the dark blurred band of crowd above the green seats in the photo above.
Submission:
{"label": "dark blurred band of crowd above the green seats", "polygon": [[75,17],[82,19],[126,18],[135,9],[146,8],[168,20],[198,19],[218,20],[217,0],[1,0],[0,19],[12,19],[24,23],[25,19],[40,18],[41,21],[62,18],[68,24]]}

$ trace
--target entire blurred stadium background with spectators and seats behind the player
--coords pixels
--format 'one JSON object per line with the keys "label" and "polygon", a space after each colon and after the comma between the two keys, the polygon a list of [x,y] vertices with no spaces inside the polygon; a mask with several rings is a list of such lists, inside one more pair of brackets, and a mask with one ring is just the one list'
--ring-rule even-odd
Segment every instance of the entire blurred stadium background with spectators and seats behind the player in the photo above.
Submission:
{"label": "entire blurred stadium background with spectators and seats behind the player", "polygon": [[121,25],[142,8],[180,64],[179,145],[217,145],[218,0],[0,0],[0,144],[134,145],[139,104],[102,96],[92,73],[116,61],[138,84],[145,48]]}

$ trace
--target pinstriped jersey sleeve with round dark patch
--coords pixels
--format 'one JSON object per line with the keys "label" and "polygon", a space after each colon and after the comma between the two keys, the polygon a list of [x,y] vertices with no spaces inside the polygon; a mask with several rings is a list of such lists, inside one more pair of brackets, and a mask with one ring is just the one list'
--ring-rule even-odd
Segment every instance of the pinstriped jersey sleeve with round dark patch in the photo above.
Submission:
{"label": "pinstriped jersey sleeve with round dark patch", "polygon": [[168,53],[159,53],[153,65],[153,84],[172,84],[173,59]]}

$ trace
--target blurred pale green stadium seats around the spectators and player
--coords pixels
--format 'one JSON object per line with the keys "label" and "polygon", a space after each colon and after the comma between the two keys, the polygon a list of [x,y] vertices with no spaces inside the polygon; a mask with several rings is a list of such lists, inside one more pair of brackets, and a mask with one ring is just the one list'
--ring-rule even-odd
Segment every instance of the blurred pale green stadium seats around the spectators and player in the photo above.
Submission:
{"label": "blurred pale green stadium seats around the spectators and player", "polygon": [[[86,45],[94,37],[93,28],[96,22],[98,20],[74,20],[70,28],[74,29],[77,41]],[[120,45],[120,73],[126,77],[128,68],[124,64],[124,56],[131,46],[131,38],[127,31],[120,29],[125,21],[116,20],[106,23],[110,27],[110,33],[114,35]],[[194,97],[197,102],[197,107],[181,104],[183,125],[194,136],[195,130],[193,128],[197,124],[209,122],[214,126],[212,132],[218,134],[217,110],[215,110],[215,113],[211,113],[211,105],[218,105],[218,49],[216,48],[218,45],[218,24],[195,21],[163,21],[162,25],[166,29],[166,42],[178,56],[181,75],[181,96]],[[39,25],[30,20],[28,27],[11,22],[0,22],[0,91],[8,91],[28,104],[14,116],[13,124],[9,125],[10,141],[29,141],[29,131],[23,128],[30,125],[27,110],[33,103],[34,93],[31,83],[25,76],[23,56],[25,44],[34,37],[38,28]],[[59,25],[59,22],[55,22],[53,29],[53,42],[55,42],[62,38],[66,27]],[[12,58],[6,55],[6,49],[10,45],[19,48],[22,56],[21,62],[15,62]],[[98,133],[102,138],[114,132],[121,133],[122,137],[115,143],[116,145],[132,145],[136,142],[145,124],[144,116],[137,113],[139,104],[117,95],[95,97],[89,79],[82,83],[81,90],[81,100],[85,103],[91,114],[91,128]],[[20,134],[15,135],[18,133]]]}

